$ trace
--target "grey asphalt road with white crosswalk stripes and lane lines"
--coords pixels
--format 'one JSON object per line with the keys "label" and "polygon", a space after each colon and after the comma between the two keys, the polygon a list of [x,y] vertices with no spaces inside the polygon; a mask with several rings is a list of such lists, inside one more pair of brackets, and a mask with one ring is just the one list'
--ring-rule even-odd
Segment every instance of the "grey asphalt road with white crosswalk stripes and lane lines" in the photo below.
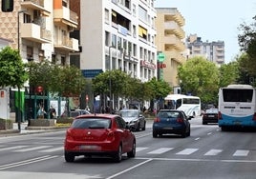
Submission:
{"label": "grey asphalt road with white crosswalk stripes and lane lines", "polygon": [[135,132],[137,156],[121,163],[109,158],[63,158],[65,130],[0,137],[3,179],[241,179],[256,178],[256,132],[224,132],[216,124],[191,120],[191,136],[152,137],[152,123]]}

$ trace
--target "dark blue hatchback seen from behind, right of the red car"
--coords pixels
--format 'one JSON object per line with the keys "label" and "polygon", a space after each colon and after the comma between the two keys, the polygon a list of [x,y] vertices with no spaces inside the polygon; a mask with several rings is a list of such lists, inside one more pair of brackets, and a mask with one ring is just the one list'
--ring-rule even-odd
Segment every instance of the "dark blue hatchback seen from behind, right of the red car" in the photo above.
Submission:
{"label": "dark blue hatchback seen from behind, right of the red car", "polygon": [[153,122],[153,137],[162,134],[179,134],[181,137],[190,136],[190,120],[182,110],[160,109]]}

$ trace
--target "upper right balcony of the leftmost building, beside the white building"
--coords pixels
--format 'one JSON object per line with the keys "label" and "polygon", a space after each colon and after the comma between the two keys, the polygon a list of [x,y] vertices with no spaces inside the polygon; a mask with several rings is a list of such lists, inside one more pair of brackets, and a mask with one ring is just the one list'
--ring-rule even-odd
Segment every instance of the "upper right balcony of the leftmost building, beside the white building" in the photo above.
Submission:
{"label": "upper right balcony of the leftmost building, beside the white building", "polygon": [[62,7],[62,9],[53,10],[53,18],[54,23],[57,24],[58,26],[68,25],[73,28],[77,28],[78,26],[77,14],[66,7]]}

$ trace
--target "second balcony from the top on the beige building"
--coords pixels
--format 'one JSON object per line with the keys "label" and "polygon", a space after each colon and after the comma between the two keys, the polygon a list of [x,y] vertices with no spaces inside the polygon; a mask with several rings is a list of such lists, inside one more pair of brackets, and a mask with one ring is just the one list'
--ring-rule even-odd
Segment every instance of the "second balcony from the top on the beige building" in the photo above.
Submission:
{"label": "second balcony from the top on the beige building", "polygon": [[164,30],[165,30],[165,33],[167,33],[167,34],[176,34],[181,39],[183,39],[185,37],[184,30],[182,30],[181,27],[177,23],[175,23],[174,21],[165,22],[164,23]]}

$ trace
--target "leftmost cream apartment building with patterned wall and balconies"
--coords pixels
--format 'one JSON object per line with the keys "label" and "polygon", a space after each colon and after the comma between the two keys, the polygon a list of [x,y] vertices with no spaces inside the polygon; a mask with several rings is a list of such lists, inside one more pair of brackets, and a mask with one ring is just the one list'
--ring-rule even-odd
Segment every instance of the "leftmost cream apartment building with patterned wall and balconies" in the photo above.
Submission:
{"label": "leftmost cream apartment building with patterned wall and balconies", "polygon": [[70,0],[14,0],[12,12],[0,13],[0,37],[12,41],[22,59],[54,60],[66,65],[70,53],[78,51],[78,40],[70,32],[78,26]]}

